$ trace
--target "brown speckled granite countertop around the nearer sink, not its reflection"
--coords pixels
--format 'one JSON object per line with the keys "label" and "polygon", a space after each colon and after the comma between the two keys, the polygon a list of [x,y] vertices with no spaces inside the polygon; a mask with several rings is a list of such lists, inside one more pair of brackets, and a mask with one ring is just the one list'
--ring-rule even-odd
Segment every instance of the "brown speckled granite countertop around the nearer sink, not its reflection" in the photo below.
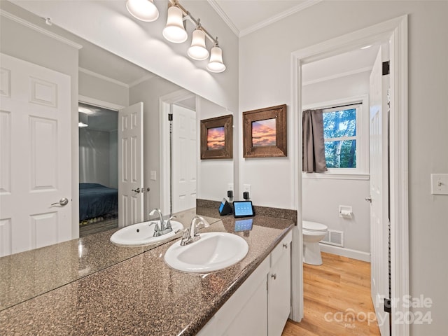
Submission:
{"label": "brown speckled granite countertop around the nearer sink, not its reflection", "polygon": [[293,221],[253,218],[235,232],[226,217],[202,232],[234,232],[249,251],[218,272],[186,274],[168,267],[160,245],[0,311],[1,335],[195,335],[276,244]]}

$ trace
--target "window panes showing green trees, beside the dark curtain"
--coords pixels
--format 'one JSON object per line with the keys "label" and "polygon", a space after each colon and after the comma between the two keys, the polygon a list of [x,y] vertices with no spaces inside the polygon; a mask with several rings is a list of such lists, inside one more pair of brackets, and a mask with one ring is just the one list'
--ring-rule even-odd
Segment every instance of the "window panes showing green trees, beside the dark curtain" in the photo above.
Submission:
{"label": "window panes showing green trees, beside the dark curtain", "polygon": [[357,168],[360,105],[323,110],[323,138],[328,168]]}

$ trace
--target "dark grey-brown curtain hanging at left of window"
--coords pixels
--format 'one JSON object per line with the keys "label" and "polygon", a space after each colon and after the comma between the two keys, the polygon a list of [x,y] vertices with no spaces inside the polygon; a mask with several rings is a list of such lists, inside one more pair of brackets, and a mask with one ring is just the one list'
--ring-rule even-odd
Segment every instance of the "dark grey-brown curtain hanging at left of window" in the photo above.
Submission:
{"label": "dark grey-brown curtain hanging at left of window", "polygon": [[327,171],[325,145],[323,141],[322,110],[303,111],[303,172],[322,173]]}

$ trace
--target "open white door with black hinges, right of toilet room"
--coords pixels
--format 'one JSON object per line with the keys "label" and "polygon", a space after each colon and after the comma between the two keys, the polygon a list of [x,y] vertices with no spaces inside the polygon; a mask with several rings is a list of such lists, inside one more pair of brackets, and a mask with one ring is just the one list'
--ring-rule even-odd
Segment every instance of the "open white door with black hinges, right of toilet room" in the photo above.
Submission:
{"label": "open white door with black hinges, right of toilet room", "polygon": [[384,311],[388,285],[388,75],[382,76],[381,48],[370,73],[370,254],[372,300],[381,335],[389,335]]}

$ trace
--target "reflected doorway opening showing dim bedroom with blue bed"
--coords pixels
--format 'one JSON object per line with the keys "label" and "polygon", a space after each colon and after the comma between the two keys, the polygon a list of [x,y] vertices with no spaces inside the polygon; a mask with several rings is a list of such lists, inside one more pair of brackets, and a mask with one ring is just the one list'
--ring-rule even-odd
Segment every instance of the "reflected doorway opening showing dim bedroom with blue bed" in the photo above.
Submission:
{"label": "reflected doorway opening showing dim bedroom with blue bed", "polygon": [[84,237],[118,228],[118,111],[82,103],[78,111],[79,232]]}

